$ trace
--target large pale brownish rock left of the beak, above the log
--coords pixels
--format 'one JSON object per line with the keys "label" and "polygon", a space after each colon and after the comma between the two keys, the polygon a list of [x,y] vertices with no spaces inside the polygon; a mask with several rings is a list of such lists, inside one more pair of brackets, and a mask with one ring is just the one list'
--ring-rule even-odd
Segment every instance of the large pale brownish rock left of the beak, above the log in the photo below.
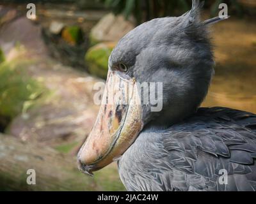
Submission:
{"label": "large pale brownish rock left of the beak, above the log", "polygon": [[[17,41],[24,47],[24,52],[13,51]],[[0,28],[0,47],[3,48],[6,61],[24,67],[31,80],[40,82],[49,91],[45,100],[31,108],[29,101],[37,94],[29,94],[24,112],[8,124],[5,132],[24,142],[36,140],[59,149],[63,149],[63,145],[67,149],[68,144],[72,146],[76,142],[77,147],[74,148],[78,148],[92,129],[97,116],[98,106],[93,103],[93,84],[99,79],[52,61],[44,46],[40,26],[26,17],[17,18]],[[16,56],[18,60],[15,61]],[[81,59],[84,62],[84,54]],[[24,60],[28,62],[22,63]],[[0,80],[0,84],[3,84],[3,80]],[[10,99],[12,103],[15,102],[14,96]],[[20,106],[17,109],[22,110]]]}

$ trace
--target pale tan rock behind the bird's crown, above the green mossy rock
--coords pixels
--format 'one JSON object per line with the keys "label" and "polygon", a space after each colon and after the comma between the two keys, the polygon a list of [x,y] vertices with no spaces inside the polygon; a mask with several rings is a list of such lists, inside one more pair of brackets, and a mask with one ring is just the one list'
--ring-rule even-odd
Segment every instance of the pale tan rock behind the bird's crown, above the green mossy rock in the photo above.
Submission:
{"label": "pale tan rock behind the bird's crown, above the green mossy rock", "polygon": [[126,33],[134,29],[132,20],[125,20],[122,15],[109,13],[100,19],[90,33],[90,44],[102,41],[118,41]]}

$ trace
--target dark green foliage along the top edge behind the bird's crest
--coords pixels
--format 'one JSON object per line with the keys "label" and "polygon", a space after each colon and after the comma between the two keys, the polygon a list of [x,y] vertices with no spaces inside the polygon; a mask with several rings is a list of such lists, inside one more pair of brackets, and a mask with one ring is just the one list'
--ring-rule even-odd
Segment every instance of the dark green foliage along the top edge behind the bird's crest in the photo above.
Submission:
{"label": "dark green foliage along the top edge behind the bird's crest", "polygon": [[[191,8],[191,0],[98,0],[115,14],[123,14],[125,18],[133,15],[137,24],[158,17],[178,16]],[[211,15],[218,15],[219,4],[227,3],[228,12],[243,15],[243,5],[237,0],[205,1],[204,8],[211,9]],[[229,10],[230,8],[230,10]],[[233,12],[235,11],[235,12]]]}

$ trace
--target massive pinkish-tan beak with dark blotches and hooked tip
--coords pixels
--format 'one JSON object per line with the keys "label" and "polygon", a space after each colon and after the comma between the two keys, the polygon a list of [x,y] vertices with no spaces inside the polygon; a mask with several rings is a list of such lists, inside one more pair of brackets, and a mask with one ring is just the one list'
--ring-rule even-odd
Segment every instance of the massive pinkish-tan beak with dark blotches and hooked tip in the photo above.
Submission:
{"label": "massive pinkish-tan beak with dark blotches and hooked tip", "polygon": [[134,79],[109,71],[92,132],[79,150],[79,168],[92,174],[124,154],[143,127],[140,95]]}

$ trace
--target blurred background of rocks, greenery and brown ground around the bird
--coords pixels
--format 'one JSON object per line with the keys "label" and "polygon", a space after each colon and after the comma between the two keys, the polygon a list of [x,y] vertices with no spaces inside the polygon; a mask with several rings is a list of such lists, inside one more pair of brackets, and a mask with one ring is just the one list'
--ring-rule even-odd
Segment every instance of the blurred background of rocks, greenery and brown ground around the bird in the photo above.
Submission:
{"label": "blurred background of rocks, greenery and brown ground around the bird", "polygon": [[[212,27],[216,75],[202,106],[256,113],[256,1],[209,0],[202,18],[217,16],[220,3],[231,17]],[[76,167],[99,108],[93,84],[106,79],[124,34],[189,8],[186,0],[1,0],[0,190],[124,191],[115,163],[93,178]],[[26,183],[31,168],[36,185]]]}

